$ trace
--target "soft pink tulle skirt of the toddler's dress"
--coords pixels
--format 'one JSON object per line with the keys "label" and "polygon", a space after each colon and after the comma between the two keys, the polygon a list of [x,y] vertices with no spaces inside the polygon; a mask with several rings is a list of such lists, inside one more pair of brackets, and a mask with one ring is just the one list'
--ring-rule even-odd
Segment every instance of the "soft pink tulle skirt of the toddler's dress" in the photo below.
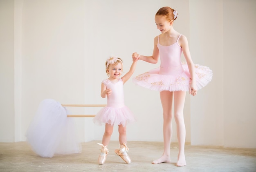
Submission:
{"label": "soft pink tulle skirt of the toddler's dress", "polygon": [[134,123],[135,117],[131,110],[124,106],[121,108],[104,107],[93,118],[93,122],[99,126],[106,123],[111,126],[122,125],[126,126],[128,123]]}

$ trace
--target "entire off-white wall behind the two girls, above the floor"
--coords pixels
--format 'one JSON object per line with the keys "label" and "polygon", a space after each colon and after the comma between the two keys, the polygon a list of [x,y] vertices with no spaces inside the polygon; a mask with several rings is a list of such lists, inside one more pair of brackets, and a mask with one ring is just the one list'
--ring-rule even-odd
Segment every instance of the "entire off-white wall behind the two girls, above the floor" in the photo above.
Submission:
{"label": "entire off-white wall behind the two girls, above the floor", "polygon": [[[249,80],[255,73],[255,24],[249,22],[256,16],[252,0],[1,0],[0,141],[25,141],[43,99],[106,104],[100,97],[101,81],[107,77],[104,61],[117,55],[128,71],[132,52],[151,55],[153,38],[160,33],[154,15],[163,6],[178,11],[174,27],[188,37],[193,61],[213,69],[211,83],[197,96],[186,96],[186,141],[255,148],[255,82]],[[247,12],[237,17],[241,7]],[[240,33],[238,40],[236,33]],[[241,65],[238,60],[242,59]],[[141,61],[134,76],[157,66]],[[234,87],[237,76],[246,80]],[[243,88],[244,83],[248,91],[234,94],[234,88]],[[126,105],[137,117],[137,123],[127,127],[128,140],[162,141],[159,93],[135,86],[131,80],[124,89]],[[70,110],[95,114],[99,108]],[[92,118],[75,120],[81,141],[102,139],[104,127],[95,126]],[[173,124],[172,141],[177,141]],[[117,139],[115,128],[112,140]]]}

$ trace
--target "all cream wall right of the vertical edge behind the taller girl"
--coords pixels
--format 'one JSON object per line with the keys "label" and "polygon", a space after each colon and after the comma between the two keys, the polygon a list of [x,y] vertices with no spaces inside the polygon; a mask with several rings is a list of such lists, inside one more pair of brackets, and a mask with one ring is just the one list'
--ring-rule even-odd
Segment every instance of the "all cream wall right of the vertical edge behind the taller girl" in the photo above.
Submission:
{"label": "all cream wall right of the vertical edge behind the taller girl", "polygon": [[191,53],[213,80],[191,101],[191,144],[256,148],[256,1],[191,0]]}

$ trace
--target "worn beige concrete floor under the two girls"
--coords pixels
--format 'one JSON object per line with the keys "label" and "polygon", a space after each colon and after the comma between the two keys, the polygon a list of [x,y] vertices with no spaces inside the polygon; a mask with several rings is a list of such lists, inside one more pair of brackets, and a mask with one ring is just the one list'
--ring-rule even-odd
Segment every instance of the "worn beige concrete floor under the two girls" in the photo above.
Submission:
{"label": "worn beige concrete floor under the two girls", "polygon": [[110,141],[110,154],[98,165],[99,145],[82,143],[82,153],[43,158],[32,152],[27,142],[0,143],[0,172],[256,172],[256,149],[216,146],[185,146],[186,163],[176,167],[177,143],[171,145],[171,163],[151,164],[162,155],[162,142],[128,141],[132,163],[126,164],[115,154],[119,146]]}

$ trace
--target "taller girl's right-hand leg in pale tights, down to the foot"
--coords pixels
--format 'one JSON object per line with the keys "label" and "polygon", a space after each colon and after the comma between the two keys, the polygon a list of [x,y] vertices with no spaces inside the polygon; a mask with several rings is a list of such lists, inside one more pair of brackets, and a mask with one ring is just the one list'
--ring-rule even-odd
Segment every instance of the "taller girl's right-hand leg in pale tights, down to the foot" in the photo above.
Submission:
{"label": "taller girl's right-hand leg in pale tights, down to the foot", "polygon": [[179,154],[176,166],[185,166],[185,138],[186,138],[186,128],[184,123],[183,109],[185,103],[186,92],[177,91],[174,92],[174,118],[177,125],[177,138],[179,142]]}

